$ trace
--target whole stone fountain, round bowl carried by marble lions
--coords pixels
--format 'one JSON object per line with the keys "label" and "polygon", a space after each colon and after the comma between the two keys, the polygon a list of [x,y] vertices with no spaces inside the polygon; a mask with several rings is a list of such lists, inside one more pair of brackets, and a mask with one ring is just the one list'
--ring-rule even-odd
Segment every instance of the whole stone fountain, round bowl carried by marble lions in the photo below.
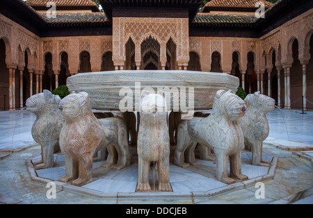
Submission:
{"label": "whole stone fountain, round bowl carried by marble lions", "polygon": [[[172,149],[173,163],[179,167],[188,167],[188,164],[197,165],[194,150],[199,143],[214,151],[218,181],[227,184],[235,182],[227,176],[228,158],[230,158],[230,176],[239,180],[248,178],[241,174],[241,149],[244,142],[248,142],[246,140],[248,136],[244,127],[245,119],[242,118],[246,113],[246,104],[234,94],[239,86],[239,78],[212,72],[122,70],[77,74],[67,78],[67,86],[72,94],[61,102],[58,100],[61,110],[58,115],[64,117],[59,142],[67,160],[66,175],[60,181],[77,186],[93,181],[93,157],[100,149],[109,151],[103,167],[120,170],[131,165],[131,159],[134,162],[134,154],[131,157],[127,143],[129,133],[131,141],[137,140],[131,143],[137,144],[138,158],[135,156],[135,162],[138,162],[137,192],[152,191],[149,171],[150,163],[153,162],[157,163],[153,170],[159,172],[157,190],[172,191],[169,180],[170,146],[175,146],[172,145],[175,142],[177,145],[174,150]],[[249,99],[250,96],[246,103],[250,102]],[[48,100],[38,98],[38,101]],[[269,100],[266,102],[268,112],[271,110],[268,102],[273,102]],[[258,111],[252,110],[251,105],[249,103],[249,115],[253,111]],[[157,110],[142,111],[143,108]],[[193,113],[198,110],[212,108],[208,117],[193,117]],[[119,117],[99,119],[92,110],[115,112]],[[168,124],[171,122],[168,121],[171,111],[179,115],[179,119],[170,118],[175,119],[177,124]],[[49,108],[46,108],[45,112],[51,114]],[[134,118],[122,118],[128,114],[122,116],[121,112],[134,112],[132,114]],[[262,121],[266,123],[266,117]],[[49,119],[45,119],[45,124],[52,128],[54,125]],[[252,123],[249,125],[253,126]],[[133,126],[131,131],[129,126]],[[60,127],[56,129],[60,132]],[[258,131],[258,128],[249,127],[249,129]],[[174,133],[177,137],[175,140]],[[268,134],[268,131],[266,133]],[[264,139],[265,137],[259,137],[258,143],[262,144]],[[262,146],[258,146],[257,149],[255,146],[257,145],[252,146],[252,151],[258,154],[255,155],[257,158],[254,158],[253,164],[259,164]],[[115,163],[117,165],[114,165]]]}

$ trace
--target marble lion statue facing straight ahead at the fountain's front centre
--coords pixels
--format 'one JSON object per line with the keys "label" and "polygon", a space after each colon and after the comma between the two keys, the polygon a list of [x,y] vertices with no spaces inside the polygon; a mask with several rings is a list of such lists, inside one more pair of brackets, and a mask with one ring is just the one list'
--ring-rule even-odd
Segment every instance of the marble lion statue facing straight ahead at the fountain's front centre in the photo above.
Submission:
{"label": "marble lion statue facing straight ahead at the fountain's front centre", "polygon": [[141,122],[138,131],[137,192],[150,192],[150,163],[157,162],[159,191],[171,192],[170,137],[168,134],[166,99],[158,94],[141,94]]}

